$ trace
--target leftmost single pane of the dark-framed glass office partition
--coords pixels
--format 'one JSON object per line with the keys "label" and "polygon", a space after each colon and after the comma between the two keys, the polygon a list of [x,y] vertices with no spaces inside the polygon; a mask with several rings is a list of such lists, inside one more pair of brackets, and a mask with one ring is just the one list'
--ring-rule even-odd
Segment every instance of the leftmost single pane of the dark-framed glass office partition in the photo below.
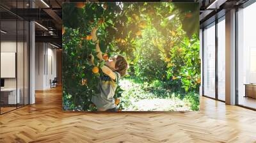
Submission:
{"label": "leftmost single pane of the dark-framed glass office partition", "polygon": [[[3,32],[4,31],[4,32]],[[1,21],[1,113],[17,108],[17,21]]]}

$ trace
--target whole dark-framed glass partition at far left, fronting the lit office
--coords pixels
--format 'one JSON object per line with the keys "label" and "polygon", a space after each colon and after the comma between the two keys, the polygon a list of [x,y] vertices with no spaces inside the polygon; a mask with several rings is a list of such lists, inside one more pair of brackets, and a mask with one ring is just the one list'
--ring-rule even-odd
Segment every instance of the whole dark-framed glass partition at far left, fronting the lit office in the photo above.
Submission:
{"label": "whole dark-framed glass partition at far left, fronting the lit office", "polygon": [[[27,8],[27,3],[0,1],[10,8]],[[29,103],[29,22],[0,8],[0,30],[0,114],[3,114]]]}

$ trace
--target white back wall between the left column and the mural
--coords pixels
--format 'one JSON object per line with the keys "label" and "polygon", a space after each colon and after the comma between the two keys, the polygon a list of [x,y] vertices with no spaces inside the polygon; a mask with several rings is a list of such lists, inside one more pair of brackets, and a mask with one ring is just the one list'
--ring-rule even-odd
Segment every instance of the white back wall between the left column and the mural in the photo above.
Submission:
{"label": "white back wall between the left column and the mural", "polygon": [[56,77],[56,67],[56,49],[49,43],[36,43],[36,90],[51,88],[50,79],[53,80]]}

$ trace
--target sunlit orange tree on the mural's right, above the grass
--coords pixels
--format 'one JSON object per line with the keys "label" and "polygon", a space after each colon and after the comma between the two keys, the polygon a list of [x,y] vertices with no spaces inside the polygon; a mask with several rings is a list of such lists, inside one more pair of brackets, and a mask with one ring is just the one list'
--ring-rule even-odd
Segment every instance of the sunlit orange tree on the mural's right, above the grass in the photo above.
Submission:
{"label": "sunlit orange tree on the mural's right, above the grass", "polygon": [[[198,6],[193,3],[163,3],[161,6],[141,8],[138,27],[143,27],[143,38],[136,42],[136,75],[149,82],[167,82],[173,91],[198,93]],[[163,10],[164,7],[167,10]]]}

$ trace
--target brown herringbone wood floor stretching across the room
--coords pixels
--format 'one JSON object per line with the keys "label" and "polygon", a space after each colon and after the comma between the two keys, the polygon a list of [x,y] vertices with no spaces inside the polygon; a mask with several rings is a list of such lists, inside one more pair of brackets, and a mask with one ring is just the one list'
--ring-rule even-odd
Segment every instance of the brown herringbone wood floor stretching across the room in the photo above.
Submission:
{"label": "brown herringbone wood floor stretching across the room", "polygon": [[0,142],[256,142],[255,111],[200,102],[200,112],[63,112],[55,88],[0,116]]}

